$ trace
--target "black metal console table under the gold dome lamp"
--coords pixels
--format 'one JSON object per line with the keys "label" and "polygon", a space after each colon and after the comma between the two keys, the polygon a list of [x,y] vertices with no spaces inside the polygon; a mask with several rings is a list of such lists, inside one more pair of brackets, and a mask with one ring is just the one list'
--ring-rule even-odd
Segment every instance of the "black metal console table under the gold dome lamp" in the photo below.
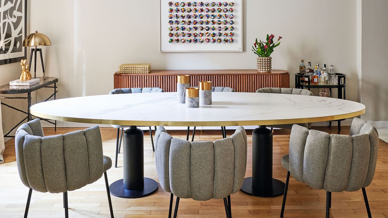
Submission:
{"label": "black metal console table under the gold dome lamp", "polygon": [[[9,130],[4,135],[4,137],[15,137],[14,135],[9,135],[9,134],[17,126],[19,126],[21,123],[23,123],[23,121],[25,121],[25,120],[30,121],[32,119],[31,112],[30,112],[31,92],[34,92],[34,91],[36,91],[36,90],[38,90],[40,88],[54,88],[54,93],[52,93],[52,95],[50,95],[50,97],[48,97],[44,101],[47,101],[47,100],[51,99],[52,97],[54,97],[54,100],[56,99],[56,95],[57,95],[57,92],[58,92],[57,91],[57,88],[58,88],[57,87],[58,78],[46,77],[46,80],[43,80],[43,77],[36,77],[36,78],[38,78],[40,80],[39,83],[36,83],[35,85],[31,85],[28,88],[14,88],[14,86],[10,87],[9,84],[5,84],[5,85],[0,86],[0,94],[2,94],[2,95],[3,94],[9,95],[9,94],[24,94],[24,93],[27,93],[27,97],[22,97],[22,96],[17,96],[17,97],[0,97],[0,99],[27,99],[27,112],[23,111],[21,109],[18,109],[16,107],[12,107],[12,106],[10,106],[8,104],[5,104],[4,102],[1,102],[2,105],[5,105],[5,106],[7,106],[7,107],[9,107],[11,109],[14,109],[16,111],[22,112],[22,113],[27,115],[24,119],[22,119],[19,123],[17,123],[16,126],[14,126],[11,130]],[[53,85],[53,86],[50,86],[50,85]],[[52,122],[52,121],[50,121],[48,119],[43,119],[43,118],[39,118],[39,119],[54,124],[54,129],[55,129],[55,131],[57,131],[57,121],[56,120],[54,122]]]}

